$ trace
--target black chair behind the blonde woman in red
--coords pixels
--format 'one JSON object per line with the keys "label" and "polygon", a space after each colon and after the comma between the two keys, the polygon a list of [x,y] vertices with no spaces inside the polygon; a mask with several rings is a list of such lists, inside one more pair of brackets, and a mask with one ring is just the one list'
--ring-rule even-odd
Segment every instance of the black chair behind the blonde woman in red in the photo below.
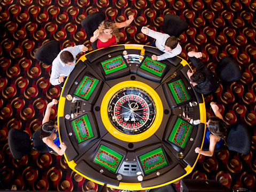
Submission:
{"label": "black chair behind the blonde woman in red", "polygon": [[[81,26],[86,31],[86,34],[89,36],[94,35],[94,31],[96,31],[99,27],[99,24],[104,21],[106,18],[106,15],[103,11],[97,11],[94,13],[91,13],[86,16],[81,22]],[[96,50],[97,48],[97,41],[94,41],[94,43],[91,44],[92,49]]]}

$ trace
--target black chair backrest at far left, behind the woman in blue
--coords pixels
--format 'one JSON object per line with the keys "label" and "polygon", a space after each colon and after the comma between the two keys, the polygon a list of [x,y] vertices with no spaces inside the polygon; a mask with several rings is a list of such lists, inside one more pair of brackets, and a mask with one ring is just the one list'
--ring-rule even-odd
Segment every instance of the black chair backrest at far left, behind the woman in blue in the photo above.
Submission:
{"label": "black chair backrest at far left, behind the woman in blue", "polygon": [[8,133],[8,144],[10,152],[15,160],[30,154],[32,151],[28,133],[19,129],[10,129]]}

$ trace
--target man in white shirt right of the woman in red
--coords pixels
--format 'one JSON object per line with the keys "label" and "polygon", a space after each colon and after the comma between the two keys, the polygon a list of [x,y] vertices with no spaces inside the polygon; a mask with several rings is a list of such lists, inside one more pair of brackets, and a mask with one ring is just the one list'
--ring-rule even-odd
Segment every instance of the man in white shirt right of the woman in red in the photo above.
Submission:
{"label": "man in white shirt right of the woman in red", "polygon": [[181,45],[178,43],[178,39],[176,37],[153,31],[147,27],[143,27],[141,31],[143,34],[156,39],[155,47],[157,47],[160,51],[165,52],[164,54],[159,56],[152,55],[152,60],[161,61],[170,57],[174,57],[181,53]]}

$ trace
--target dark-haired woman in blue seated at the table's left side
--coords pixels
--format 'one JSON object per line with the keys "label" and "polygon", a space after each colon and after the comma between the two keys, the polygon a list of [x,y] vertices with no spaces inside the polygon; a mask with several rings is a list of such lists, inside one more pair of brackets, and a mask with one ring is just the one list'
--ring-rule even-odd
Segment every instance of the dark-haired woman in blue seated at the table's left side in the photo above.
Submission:
{"label": "dark-haired woman in blue seated at the table's left side", "polygon": [[63,155],[67,146],[64,143],[60,144],[58,126],[55,122],[49,120],[51,107],[57,103],[58,101],[56,99],[52,99],[52,102],[47,105],[43,124],[40,128],[40,137],[47,147],[51,147],[56,153]]}

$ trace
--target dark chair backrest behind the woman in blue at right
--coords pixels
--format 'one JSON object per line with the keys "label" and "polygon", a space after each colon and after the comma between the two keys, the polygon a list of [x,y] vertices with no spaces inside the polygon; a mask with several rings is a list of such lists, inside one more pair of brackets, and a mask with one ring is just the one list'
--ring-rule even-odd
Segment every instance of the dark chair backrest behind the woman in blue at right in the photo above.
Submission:
{"label": "dark chair backrest behind the woman in blue at right", "polygon": [[243,123],[238,123],[228,132],[228,148],[231,151],[247,155],[250,153],[251,139],[249,128]]}

